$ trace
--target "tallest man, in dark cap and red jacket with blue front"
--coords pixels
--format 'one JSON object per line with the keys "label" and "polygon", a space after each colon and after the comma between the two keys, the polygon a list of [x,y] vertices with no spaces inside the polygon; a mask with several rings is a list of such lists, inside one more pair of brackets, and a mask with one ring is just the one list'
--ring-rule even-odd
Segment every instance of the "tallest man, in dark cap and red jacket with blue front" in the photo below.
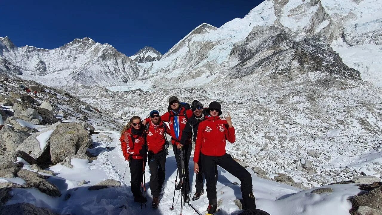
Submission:
{"label": "tallest man, in dark cap and red jacket with blue front", "polygon": [[[193,111],[186,110],[184,107],[182,107],[179,103],[179,99],[176,96],[171,96],[170,99],[168,99],[169,104],[169,110],[165,114],[163,114],[160,118],[163,122],[168,122],[170,125],[170,135],[171,135],[171,142],[173,145],[173,151],[175,154],[175,160],[176,160],[176,166],[178,167],[179,172],[179,179],[180,182],[178,186],[176,186],[176,190],[180,190],[182,187],[181,183],[181,158],[180,158],[180,150],[183,150],[183,155],[185,156],[185,170],[187,178],[189,178],[189,172],[188,172],[188,161],[191,156],[191,138],[188,138],[185,142],[185,145],[180,143],[181,137],[182,137],[182,130],[186,127],[187,121],[189,118],[193,116]],[[143,124],[146,125],[147,122],[150,122],[151,119],[147,118],[145,121],[143,121]],[[189,183],[186,184],[186,193],[189,192]],[[188,196],[186,196],[188,198]]]}

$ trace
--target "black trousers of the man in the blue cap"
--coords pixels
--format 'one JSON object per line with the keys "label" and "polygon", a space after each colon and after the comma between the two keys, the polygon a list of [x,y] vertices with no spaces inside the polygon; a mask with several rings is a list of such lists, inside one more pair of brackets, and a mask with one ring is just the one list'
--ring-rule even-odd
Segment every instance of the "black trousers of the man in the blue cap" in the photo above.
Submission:
{"label": "black trousers of the man in the blue cap", "polygon": [[163,182],[165,181],[165,165],[166,165],[166,151],[163,150],[157,154],[149,153],[147,155],[150,168],[150,190],[152,197],[159,197],[160,189],[162,189]]}

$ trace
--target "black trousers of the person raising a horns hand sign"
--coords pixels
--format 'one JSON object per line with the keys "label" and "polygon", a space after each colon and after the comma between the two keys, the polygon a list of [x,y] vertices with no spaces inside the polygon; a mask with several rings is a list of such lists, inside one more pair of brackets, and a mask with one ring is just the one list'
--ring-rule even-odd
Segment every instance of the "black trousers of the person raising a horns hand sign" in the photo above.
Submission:
{"label": "black trousers of the person raising a horns hand sign", "polygon": [[223,156],[207,156],[201,154],[204,177],[206,177],[207,198],[210,204],[216,204],[215,165],[219,165],[228,173],[238,178],[241,182],[241,195],[243,196],[243,207],[256,209],[255,197],[253,195],[251,174],[227,153]]}

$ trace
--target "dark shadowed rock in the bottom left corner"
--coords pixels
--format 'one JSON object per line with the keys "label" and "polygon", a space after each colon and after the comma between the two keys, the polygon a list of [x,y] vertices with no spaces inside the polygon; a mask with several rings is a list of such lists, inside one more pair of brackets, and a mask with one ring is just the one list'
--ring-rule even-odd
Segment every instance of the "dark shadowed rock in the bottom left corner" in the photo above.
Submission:
{"label": "dark shadowed rock in the bottom left corner", "polygon": [[39,208],[29,203],[5,205],[0,208],[0,215],[59,215],[48,208]]}

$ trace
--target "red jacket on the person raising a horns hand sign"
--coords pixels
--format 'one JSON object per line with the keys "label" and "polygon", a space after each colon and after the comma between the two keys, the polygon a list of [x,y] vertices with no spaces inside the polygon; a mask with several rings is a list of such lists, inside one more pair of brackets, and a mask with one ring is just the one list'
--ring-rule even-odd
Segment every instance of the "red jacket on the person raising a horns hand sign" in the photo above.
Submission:
{"label": "red jacket on the person raising a horns hand sign", "polygon": [[194,162],[199,161],[200,152],[208,156],[225,155],[225,141],[235,142],[235,128],[219,116],[206,116],[197,129]]}

